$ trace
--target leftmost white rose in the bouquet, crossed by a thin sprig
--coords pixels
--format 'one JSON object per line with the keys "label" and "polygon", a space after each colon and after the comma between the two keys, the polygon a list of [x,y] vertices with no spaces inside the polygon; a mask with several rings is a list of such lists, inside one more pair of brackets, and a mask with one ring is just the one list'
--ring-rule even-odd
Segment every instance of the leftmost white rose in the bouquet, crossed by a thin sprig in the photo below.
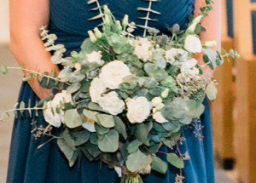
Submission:
{"label": "leftmost white rose in the bouquet, crossed by a thin sprig", "polygon": [[[54,109],[54,114],[51,108]],[[61,122],[64,123],[64,112],[61,110],[61,113],[58,114],[55,112],[55,108],[56,105],[52,101],[48,101],[46,103],[46,109],[44,110],[44,119],[47,123],[58,128],[61,126]]]}

